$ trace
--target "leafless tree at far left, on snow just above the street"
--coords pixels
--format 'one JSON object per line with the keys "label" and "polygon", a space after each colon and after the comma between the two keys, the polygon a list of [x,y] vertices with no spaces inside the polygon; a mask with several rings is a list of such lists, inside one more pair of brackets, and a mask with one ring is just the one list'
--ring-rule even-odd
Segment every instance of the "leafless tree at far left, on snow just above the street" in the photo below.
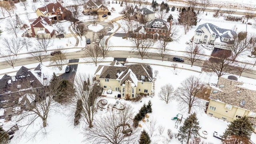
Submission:
{"label": "leafless tree at far left, on snow just above the street", "polygon": [[21,38],[4,38],[3,45],[6,47],[6,50],[15,56],[18,55],[18,52],[24,47]]}

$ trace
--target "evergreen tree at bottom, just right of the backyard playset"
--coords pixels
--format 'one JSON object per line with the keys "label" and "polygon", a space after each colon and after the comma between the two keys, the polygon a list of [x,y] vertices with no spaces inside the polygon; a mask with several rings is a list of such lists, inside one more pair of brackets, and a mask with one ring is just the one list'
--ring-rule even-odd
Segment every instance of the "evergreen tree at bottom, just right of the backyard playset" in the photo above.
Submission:
{"label": "evergreen tree at bottom, just right of the backyard playset", "polygon": [[197,120],[196,113],[194,113],[188,116],[188,118],[184,121],[184,124],[180,127],[177,136],[180,142],[186,141],[188,144],[190,138],[195,138],[198,136],[200,127]]}

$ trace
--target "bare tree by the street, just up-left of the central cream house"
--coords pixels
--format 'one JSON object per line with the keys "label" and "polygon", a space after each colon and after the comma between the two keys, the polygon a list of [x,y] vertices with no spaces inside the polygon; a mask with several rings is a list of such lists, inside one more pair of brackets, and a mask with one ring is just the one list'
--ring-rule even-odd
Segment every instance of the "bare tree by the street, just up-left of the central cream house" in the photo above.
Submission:
{"label": "bare tree by the street, just up-left of the central cream house", "polygon": [[86,48],[83,58],[87,62],[93,62],[95,66],[103,60],[102,52],[98,46],[89,46]]}

